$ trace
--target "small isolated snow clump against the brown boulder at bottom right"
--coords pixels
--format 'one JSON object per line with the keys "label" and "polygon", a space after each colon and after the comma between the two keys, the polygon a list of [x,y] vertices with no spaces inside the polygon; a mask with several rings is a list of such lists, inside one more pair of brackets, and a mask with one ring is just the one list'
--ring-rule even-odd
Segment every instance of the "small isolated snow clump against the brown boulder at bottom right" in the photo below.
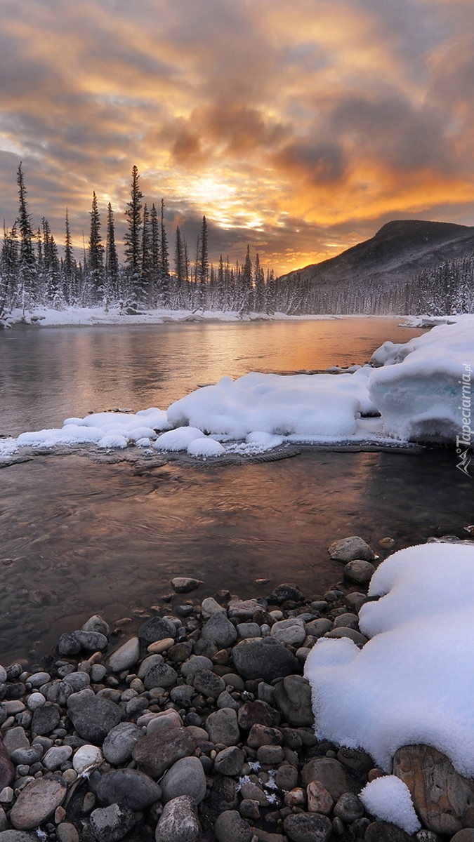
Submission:
{"label": "small isolated snow clump against the brown boulder at bottom right", "polygon": [[375,778],[359,794],[365,809],[384,822],[414,834],[421,829],[407,784],[396,775]]}

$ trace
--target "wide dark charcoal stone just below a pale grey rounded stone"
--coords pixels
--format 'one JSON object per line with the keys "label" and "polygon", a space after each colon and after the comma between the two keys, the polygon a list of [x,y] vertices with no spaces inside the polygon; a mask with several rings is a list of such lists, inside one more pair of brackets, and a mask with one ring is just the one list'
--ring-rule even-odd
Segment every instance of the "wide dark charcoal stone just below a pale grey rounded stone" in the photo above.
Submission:
{"label": "wide dark charcoal stone just below a pale grey rounded stone", "polygon": [[270,683],[283,675],[299,673],[297,658],[276,637],[250,637],[232,650],[235,669],[245,679]]}

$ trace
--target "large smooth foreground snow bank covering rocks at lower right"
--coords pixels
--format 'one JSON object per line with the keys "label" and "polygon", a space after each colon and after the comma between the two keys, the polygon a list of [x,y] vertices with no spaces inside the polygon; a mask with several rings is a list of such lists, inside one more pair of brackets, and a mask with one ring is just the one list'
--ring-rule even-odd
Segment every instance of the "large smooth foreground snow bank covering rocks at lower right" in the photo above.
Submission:
{"label": "large smooth foreground snow bank covering rocks at lower right", "polygon": [[304,674],[316,735],[362,748],[385,771],[402,745],[425,743],[474,776],[474,546],[396,552],[374,573],[359,615],[373,636],[323,638]]}

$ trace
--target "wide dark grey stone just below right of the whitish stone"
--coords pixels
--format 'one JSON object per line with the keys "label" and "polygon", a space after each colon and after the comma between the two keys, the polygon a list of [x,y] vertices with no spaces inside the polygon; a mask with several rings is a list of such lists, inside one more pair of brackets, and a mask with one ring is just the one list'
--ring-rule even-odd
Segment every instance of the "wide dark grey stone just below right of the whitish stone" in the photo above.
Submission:
{"label": "wide dark grey stone just below right of the whitish stone", "polygon": [[161,789],[137,769],[111,769],[101,776],[96,794],[102,804],[121,804],[135,811],[159,801]]}

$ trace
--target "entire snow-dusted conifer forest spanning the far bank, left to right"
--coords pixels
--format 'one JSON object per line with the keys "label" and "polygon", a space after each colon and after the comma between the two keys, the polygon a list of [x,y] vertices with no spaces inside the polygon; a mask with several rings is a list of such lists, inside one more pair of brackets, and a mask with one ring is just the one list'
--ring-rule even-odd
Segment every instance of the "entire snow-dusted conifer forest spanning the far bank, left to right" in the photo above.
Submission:
{"label": "entire snow-dusted conifer forest spanning the far bank, left to right", "polygon": [[[66,210],[64,241],[58,247],[46,217],[35,230],[21,163],[17,172],[18,216],[3,224],[0,253],[0,320],[19,308],[23,317],[38,306],[111,306],[133,314],[142,309],[219,311],[241,314],[276,312],[309,314],[453,315],[474,312],[474,255],[424,269],[412,280],[387,285],[368,277],[351,284],[311,285],[309,280],[275,278],[252,261],[250,246],[241,264],[219,257],[209,260],[206,216],[189,253],[176,226],[170,253],[164,225],[164,200],[157,208],[143,201],[137,167],[132,168],[125,216],[124,259],[116,246],[115,213],[109,202],[103,226],[95,192],[89,212],[89,239],[82,260],[73,249]],[[104,231],[104,233],[103,233]],[[60,248],[62,253],[60,254]]]}

